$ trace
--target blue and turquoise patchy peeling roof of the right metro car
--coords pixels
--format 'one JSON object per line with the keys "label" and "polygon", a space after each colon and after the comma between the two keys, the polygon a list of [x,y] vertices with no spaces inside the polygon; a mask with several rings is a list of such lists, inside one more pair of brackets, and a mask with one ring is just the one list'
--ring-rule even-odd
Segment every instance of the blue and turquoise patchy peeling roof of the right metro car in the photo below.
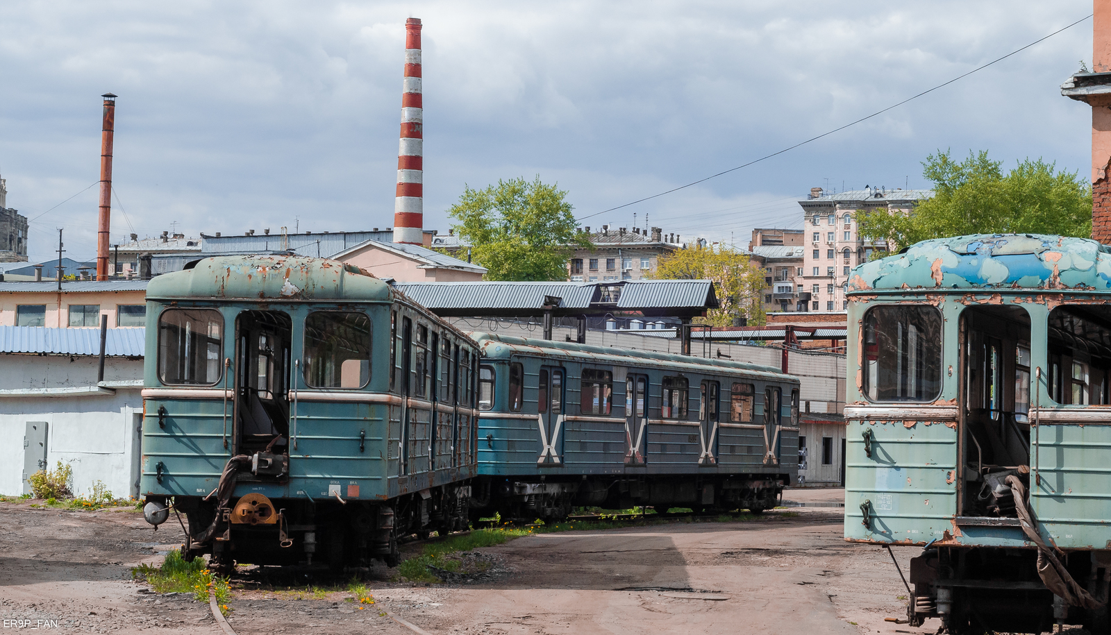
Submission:
{"label": "blue and turquoise patchy peeling roof of the right metro car", "polygon": [[1111,290],[1111,248],[1049,234],[970,234],[915,243],[857,265],[847,292]]}

